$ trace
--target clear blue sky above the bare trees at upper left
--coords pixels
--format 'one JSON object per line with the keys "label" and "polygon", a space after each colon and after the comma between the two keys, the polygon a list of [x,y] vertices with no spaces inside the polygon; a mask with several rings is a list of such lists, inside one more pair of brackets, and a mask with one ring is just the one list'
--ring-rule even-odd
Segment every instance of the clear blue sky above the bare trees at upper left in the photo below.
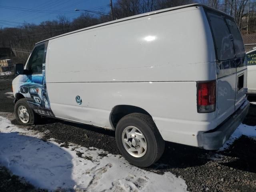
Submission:
{"label": "clear blue sky above the bare trees at upper left", "polygon": [[108,13],[109,4],[110,0],[0,0],[0,27],[17,27],[24,22],[40,24],[58,15],[72,20],[82,12],[75,9]]}

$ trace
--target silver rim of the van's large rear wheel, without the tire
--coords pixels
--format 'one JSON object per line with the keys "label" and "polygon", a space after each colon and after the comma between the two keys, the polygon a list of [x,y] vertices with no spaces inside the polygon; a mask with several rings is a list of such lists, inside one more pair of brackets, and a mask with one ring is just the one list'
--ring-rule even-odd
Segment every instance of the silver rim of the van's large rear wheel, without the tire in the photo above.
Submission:
{"label": "silver rim of the van's large rear wheel, without the tire", "polygon": [[136,158],[143,157],[147,152],[147,141],[144,134],[134,126],[123,130],[122,143],[126,151]]}

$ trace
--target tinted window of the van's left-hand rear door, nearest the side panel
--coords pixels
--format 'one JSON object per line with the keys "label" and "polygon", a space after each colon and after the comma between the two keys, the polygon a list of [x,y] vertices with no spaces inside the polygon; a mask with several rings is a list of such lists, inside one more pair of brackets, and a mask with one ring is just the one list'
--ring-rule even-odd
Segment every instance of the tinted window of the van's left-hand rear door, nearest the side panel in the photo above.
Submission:
{"label": "tinted window of the van's left-hand rear door, nearest the side panel", "polygon": [[234,46],[224,18],[210,12],[207,14],[212,26],[218,60],[233,59]]}

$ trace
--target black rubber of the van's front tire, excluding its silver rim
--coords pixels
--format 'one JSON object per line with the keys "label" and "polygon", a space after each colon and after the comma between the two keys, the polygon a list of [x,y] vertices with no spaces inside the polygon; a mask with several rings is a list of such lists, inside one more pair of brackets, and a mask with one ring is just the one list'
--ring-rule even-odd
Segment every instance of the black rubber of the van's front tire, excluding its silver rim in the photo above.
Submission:
{"label": "black rubber of the van's front tire, excluding its silver rim", "polygon": [[[27,111],[28,111],[28,114],[29,114],[29,120],[27,123],[24,123],[20,120],[19,116],[18,116],[18,108],[19,106],[24,106]],[[15,117],[16,117],[16,120],[18,121],[19,124],[21,125],[33,125],[35,124],[38,119],[39,119],[39,115],[36,114],[31,108],[30,106],[28,105],[27,103],[27,100],[26,98],[23,98],[23,99],[20,99],[18,100],[16,103],[15,103],[15,106],[14,106],[14,114],[15,114]]]}

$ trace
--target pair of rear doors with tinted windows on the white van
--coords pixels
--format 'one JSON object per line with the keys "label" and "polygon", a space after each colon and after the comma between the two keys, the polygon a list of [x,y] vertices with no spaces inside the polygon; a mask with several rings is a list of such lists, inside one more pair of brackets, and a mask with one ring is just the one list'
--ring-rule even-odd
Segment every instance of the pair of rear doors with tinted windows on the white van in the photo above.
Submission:
{"label": "pair of rear doors with tinted windows on the white van", "polygon": [[217,114],[226,119],[245,99],[247,74],[244,45],[233,18],[214,10],[206,10],[206,14],[218,68]]}

